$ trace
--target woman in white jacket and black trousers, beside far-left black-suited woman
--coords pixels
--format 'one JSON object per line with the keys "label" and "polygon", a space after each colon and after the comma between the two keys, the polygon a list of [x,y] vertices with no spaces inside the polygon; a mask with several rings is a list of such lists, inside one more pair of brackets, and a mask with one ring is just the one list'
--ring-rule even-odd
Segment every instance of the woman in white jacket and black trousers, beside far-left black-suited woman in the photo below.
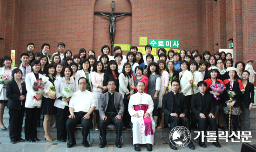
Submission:
{"label": "woman in white jacket and black trousers, beside far-left black-suited woman", "polygon": [[34,60],[31,63],[31,73],[26,75],[26,89],[27,89],[27,97],[25,102],[26,108],[26,119],[25,119],[25,139],[29,142],[39,141],[37,138],[37,119],[40,116],[40,108],[41,106],[33,106],[34,97],[38,100],[42,99],[42,95],[37,95],[35,91],[32,89],[34,82],[41,78],[43,75],[39,73],[41,70],[41,65],[38,60]]}

